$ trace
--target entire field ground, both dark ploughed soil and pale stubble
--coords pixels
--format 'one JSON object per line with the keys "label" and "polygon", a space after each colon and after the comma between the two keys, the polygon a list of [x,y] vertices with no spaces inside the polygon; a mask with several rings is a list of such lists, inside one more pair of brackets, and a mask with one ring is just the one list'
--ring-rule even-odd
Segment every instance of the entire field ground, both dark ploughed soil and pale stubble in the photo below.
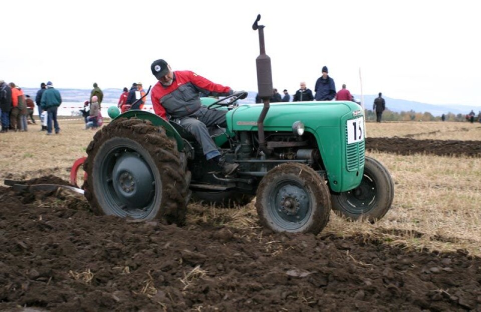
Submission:
{"label": "entire field ground, both dark ploughed soil and pale stubble", "polygon": [[481,125],[366,124],[367,155],[395,182],[376,224],[331,214],[317,235],[275,234],[254,204],[190,204],[187,225],[96,216],[66,183],[93,131],[0,136],[0,310],[481,309]]}

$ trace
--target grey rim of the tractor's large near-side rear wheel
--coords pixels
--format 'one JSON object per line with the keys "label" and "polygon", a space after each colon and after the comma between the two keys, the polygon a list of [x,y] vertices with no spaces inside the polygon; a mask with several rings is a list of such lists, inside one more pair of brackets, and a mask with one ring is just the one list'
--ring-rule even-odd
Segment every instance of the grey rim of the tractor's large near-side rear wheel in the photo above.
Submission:
{"label": "grey rim of the tractor's large near-side rear wheel", "polygon": [[130,147],[116,147],[101,163],[98,183],[113,214],[145,218],[154,208],[159,181],[149,162]]}

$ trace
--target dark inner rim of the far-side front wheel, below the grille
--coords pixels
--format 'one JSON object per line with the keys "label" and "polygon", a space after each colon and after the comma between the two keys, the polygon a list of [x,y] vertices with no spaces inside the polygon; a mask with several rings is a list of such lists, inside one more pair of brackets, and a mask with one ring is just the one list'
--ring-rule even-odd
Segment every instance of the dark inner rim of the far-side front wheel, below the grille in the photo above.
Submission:
{"label": "dark inner rim of the far-side front wheel, below the grille", "polygon": [[342,193],[347,203],[345,209],[348,213],[361,215],[374,208],[376,199],[376,184],[369,176],[364,175],[361,184],[350,191]]}

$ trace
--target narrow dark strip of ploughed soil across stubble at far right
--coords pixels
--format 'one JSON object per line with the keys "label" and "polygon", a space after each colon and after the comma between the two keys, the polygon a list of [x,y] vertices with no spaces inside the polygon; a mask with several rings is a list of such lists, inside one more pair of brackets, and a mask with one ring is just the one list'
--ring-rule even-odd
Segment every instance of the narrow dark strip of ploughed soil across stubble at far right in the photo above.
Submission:
{"label": "narrow dark strip of ploughed soil across stubble at far right", "polygon": [[366,150],[400,155],[415,153],[438,156],[481,157],[481,141],[414,139],[410,137],[367,137]]}

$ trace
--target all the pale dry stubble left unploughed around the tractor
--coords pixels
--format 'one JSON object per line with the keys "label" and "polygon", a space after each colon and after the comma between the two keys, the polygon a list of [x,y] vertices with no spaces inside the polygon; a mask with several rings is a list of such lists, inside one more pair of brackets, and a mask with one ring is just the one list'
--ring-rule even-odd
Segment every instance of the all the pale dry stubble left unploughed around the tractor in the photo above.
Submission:
{"label": "all the pale dry stubble left unploughed around the tractor", "polygon": [[[47,136],[38,127],[31,127],[29,132],[2,133],[0,185],[4,179],[31,179],[48,174],[68,181],[70,167],[76,159],[86,156],[85,149],[94,132],[83,130],[82,120],[61,120],[60,126],[60,135]],[[481,139],[479,123],[369,122],[366,127],[371,137]],[[391,211],[374,225],[348,222],[331,214],[323,233],[341,236],[363,233],[389,244],[439,251],[466,249],[481,255],[481,159],[377,152],[368,155],[381,161],[394,179]],[[187,223],[202,222],[245,229],[259,227],[254,202],[236,209],[189,205]],[[268,244],[268,238],[253,235],[249,239],[265,242],[273,253],[282,252],[277,244]]]}

